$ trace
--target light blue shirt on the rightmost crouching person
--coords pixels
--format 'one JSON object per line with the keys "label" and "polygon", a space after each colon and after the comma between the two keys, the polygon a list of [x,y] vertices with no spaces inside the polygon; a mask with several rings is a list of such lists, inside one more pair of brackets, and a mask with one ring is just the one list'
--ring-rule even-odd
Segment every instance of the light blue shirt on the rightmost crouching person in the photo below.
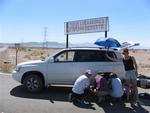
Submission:
{"label": "light blue shirt on the rightmost crouching person", "polygon": [[123,95],[122,83],[119,78],[112,78],[112,91],[110,95],[116,98]]}

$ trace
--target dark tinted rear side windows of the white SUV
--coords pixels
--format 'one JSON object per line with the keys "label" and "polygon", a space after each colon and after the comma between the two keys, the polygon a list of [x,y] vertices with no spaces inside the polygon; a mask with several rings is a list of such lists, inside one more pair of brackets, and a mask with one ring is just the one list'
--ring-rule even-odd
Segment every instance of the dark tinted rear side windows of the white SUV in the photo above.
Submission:
{"label": "dark tinted rear side windows of the white SUV", "polygon": [[76,62],[113,62],[116,55],[112,51],[79,50],[75,55]]}

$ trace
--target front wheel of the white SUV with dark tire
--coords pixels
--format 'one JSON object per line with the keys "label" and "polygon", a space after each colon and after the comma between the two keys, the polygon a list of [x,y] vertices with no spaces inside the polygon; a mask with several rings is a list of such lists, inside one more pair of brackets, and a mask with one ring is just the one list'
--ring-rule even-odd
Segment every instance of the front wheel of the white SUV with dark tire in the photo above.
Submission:
{"label": "front wheel of the white SUV with dark tire", "polygon": [[25,77],[23,85],[29,92],[39,92],[44,86],[41,77],[35,74],[30,74]]}

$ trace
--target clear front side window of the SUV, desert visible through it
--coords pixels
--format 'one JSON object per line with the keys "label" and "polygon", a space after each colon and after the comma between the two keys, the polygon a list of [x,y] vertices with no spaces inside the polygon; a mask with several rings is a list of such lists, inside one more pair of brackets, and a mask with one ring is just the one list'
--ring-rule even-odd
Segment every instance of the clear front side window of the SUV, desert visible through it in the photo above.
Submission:
{"label": "clear front side window of the SUV, desert visible through it", "polygon": [[55,62],[73,62],[74,61],[74,51],[63,51],[56,55],[54,58]]}

